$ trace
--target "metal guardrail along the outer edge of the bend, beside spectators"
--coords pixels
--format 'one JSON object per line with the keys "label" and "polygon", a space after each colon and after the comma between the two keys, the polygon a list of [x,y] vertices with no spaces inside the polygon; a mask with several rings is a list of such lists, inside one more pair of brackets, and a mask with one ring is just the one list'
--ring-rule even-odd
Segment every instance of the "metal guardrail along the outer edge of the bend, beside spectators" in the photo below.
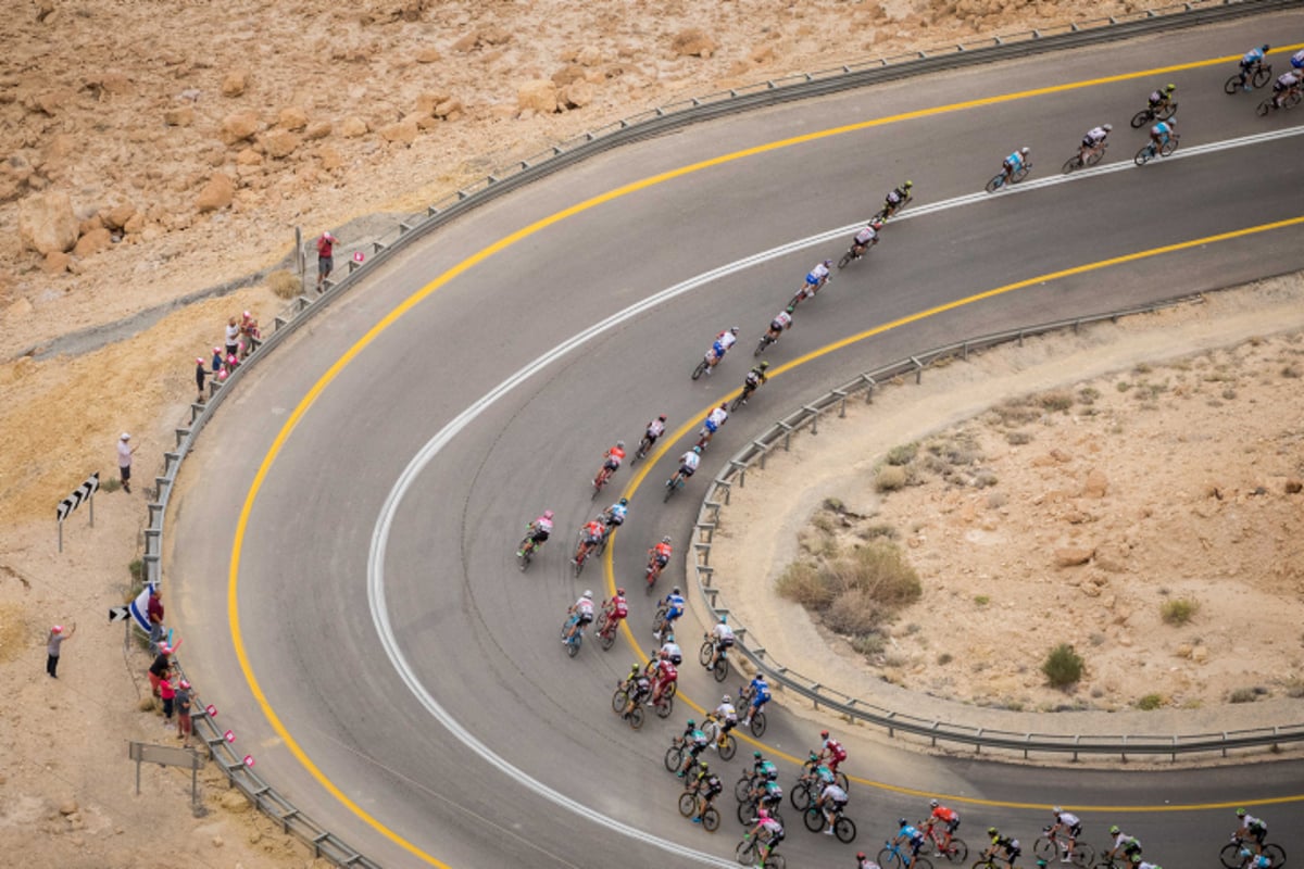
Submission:
{"label": "metal guardrail along the outer edge of the bend, beside spectators", "polygon": [[[163,453],[163,473],[154,478],[154,499],[146,506],[147,521],[145,529],[145,554],[142,555],[146,581],[162,582],[163,522],[172,486],[176,482],[176,476],[184,457],[194,448],[203,426],[222,405],[227,390],[240,382],[249,365],[259,362],[269,350],[287,340],[312,315],[325,309],[330,301],[352,289],[372,268],[390,259],[412,241],[455,220],[472,208],[486,205],[499,195],[617,146],[730,113],[944,69],[1112,42],[1162,30],[1230,21],[1301,5],[1304,5],[1304,0],[1193,0],[1132,16],[1074,22],[1060,27],[1030,30],[930,51],[910,52],[895,57],[880,57],[824,72],[799,73],[784,78],[768,79],[746,87],[672,103],[643,112],[642,115],[622,119],[614,124],[584,133],[578,138],[554,145],[540,155],[520,160],[497,173],[489,175],[477,184],[434,202],[422,214],[411,215],[400,220],[393,236],[385,235],[370,242],[372,257],[365,264],[349,261],[347,275],[340,280],[327,279],[323,281],[323,292],[318,296],[296,297],[289,307],[274,319],[273,334],[262,341],[256,343],[253,352],[226,383],[210,382],[209,400],[190,405],[190,421],[188,425],[176,429],[176,448]],[[296,250],[291,255],[291,259],[297,255],[299,251]],[[922,369],[922,363],[919,367]],[[742,477],[739,477],[741,483]],[[815,688],[819,687],[816,685]],[[795,684],[793,691],[798,691]],[[855,702],[850,697],[846,701],[852,705]],[[888,720],[896,718],[895,713],[885,714],[888,715]],[[201,717],[196,715],[196,718]],[[206,719],[206,717],[203,718]],[[213,747],[209,739],[205,741],[210,744],[210,748]],[[994,745],[995,743],[988,741],[987,744]],[[218,758],[216,752],[214,752],[214,758]],[[301,814],[284,797],[254,775],[244,765],[243,760],[239,763],[232,763],[230,758],[219,760],[218,762],[227,771],[232,786],[239,787],[259,809],[280,821],[287,831],[295,833],[305,842],[313,844],[318,856],[331,860],[340,866],[376,865]]]}

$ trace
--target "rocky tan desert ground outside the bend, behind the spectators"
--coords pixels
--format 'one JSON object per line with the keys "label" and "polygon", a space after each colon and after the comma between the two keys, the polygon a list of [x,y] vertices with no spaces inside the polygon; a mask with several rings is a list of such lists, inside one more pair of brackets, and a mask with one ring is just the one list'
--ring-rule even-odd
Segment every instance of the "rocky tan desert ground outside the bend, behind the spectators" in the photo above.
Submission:
{"label": "rocky tan desert ground outside the bend, behind the spectators", "polygon": [[[368,215],[677,98],[1146,5],[18,4],[0,22],[0,848],[31,866],[310,862],[211,770],[202,818],[183,773],[146,769],[134,795],[124,741],[171,735],[140,707],[147,661],[104,624],[194,357],[227,317],[278,313],[241,278],[280,262],[296,225],[348,249],[379,225]],[[83,507],[57,555],[51,508],[90,470],[112,476],[123,430],[136,492],[102,492],[93,529]],[[56,621],[81,627],[53,681]]]}

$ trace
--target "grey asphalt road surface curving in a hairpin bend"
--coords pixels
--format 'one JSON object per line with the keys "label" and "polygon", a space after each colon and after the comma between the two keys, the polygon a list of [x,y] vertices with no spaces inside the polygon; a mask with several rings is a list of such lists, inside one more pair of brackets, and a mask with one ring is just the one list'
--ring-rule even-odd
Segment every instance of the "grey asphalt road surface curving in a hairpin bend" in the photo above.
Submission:
{"label": "grey asphalt road surface curving in a hairpin bend", "polygon": [[[205,700],[219,706],[222,723],[278,788],[386,865],[424,865],[422,855],[452,866],[695,865],[692,855],[666,851],[666,842],[730,860],[741,833],[732,797],[720,800],[721,831],[707,835],[678,816],[677,783],[661,767],[670,736],[692,714],[687,706],[631,732],[609,711],[614,683],[635,658],[626,640],[610,653],[585,645],[575,661],[565,655],[557,632],[566,606],[584,588],[605,588],[595,568],[575,580],[563,550],[597,507],[587,481],[602,451],[617,438],[632,446],[656,413],[666,413],[672,429],[700,418],[735,388],[768,319],[810,266],[836,259],[846,241],[763,259],[619,319],[554,360],[537,360],[668,287],[862,220],[905,177],[915,182],[915,211],[981,190],[1000,158],[1021,145],[1033,149],[1030,182],[1051,177],[1082,132],[1103,121],[1115,126],[1106,165],[1129,162],[1144,134],[1128,119],[1166,81],[1179,86],[1183,150],[1288,129],[1304,113],[1257,119],[1260,96],[1222,93],[1231,64],[991,98],[1240,53],[1264,39],[1286,42],[1304,33],[1301,25],[1292,14],[1180,31],[694,126],[596,158],[432,236],[258,365],[185,465],[166,567],[186,667]],[[1273,61],[1281,66],[1284,57]],[[969,102],[642,185],[537,228],[441,285],[382,335],[373,331],[464,258],[591,197],[769,142]],[[895,221],[868,259],[799,307],[794,328],[767,356],[780,363],[1013,281],[1299,218],[1300,143],[1286,137],[1068,184],[1029,184]],[[1297,227],[1277,229],[1034,284],[902,324],[776,378],[717,435],[702,473],[805,396],[909,352],[1301,267]],[[729,326],[742,330],[738,350],[713,377],[691,382],[711,337]],[[376,340],[282,436],[314,384],[369,332]],[[437,433],[523,370],[528,377],[432,455],[396,502],[383,558],[372,565],[382,571],[393,631],[387,655],[370,611],[381,586],[369,572],[386,499]],[[686,446],[674,444],[673,455]],[[265,461],[273,449],[274,461]],[[662,504],[656,490],[672,470],[672,460],[661,460],[632,498],[614,545],[622,582],[634,585],[643,550],[661,534],[681,548],[689,538],[702,485]],[[605,503],[629,481],[622,469]],[[558,533],[522,576],[514,545],[544,508],[557,511]],[[677,564],[662,586],[682,578]],[[631,627],[647,650],[651,605],[632,599]],[[679,636],[691,657],[699,627],[689,624],[691,615],[685,621]],[[406,667],[396,670],[391,658]],[[700,704],[719,701],[719,687],[694,666],[682,668],[681,691]],[[765,750],[803,754],[815,730],[776,710]],[[467,740],[479,740],[493,758],[469,750]],[[958,797],[971,843],[996,823],[1030,847],[1048,812],[1000,804],[1061,803],[1082,808],[1097,844],[1119,822],[1170,869],[1214,865],[1235,818],[1227,806],[1151,809],[1295,796],[1304,773],[1299,762],[1041,770],[926,757],[875,735],[852,736],[850,750],[848,769],[858,778]],[[715,766],[732,786],[742,758]],[[782,769],[786,786],[795,773],[789,763]],[[789,810],[782,849],[790,865],[850,865],[857,847],[876,851],[897,816],[917,818],[926,806],[926,796],[859,782],[852,797],[861,836],[850,847],[808,834]],[[1270,839],[1288,853],[1304,848],[1299,805],[1260,812],[1271,823]]]}

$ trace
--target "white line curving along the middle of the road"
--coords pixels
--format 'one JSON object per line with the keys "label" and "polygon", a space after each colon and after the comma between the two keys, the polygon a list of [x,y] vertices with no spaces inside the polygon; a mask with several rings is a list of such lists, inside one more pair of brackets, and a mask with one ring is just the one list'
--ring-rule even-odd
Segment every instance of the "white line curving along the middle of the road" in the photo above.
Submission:
{"label": "white line curving along the middle of the road", "polygon": [[[1189,149],[1181,149],[1174,152],[1172,156],[1164,158],[1167,160],[1193,158],[1202,154],[1213,154],[1217,151],[1223,151],[1234,147],[1244,147],[1249,145],[1258,145],[1261,142],[1269,142],[1278,138],[1284,138],[1288,135],[1299,135],[1304,133],[1304,126],[1290,128],[1284,130],[1274,130],[1271,133],[1258,133],[1254,135],[1244,135],[1235,139],[1227,139],[1223,142],[1210,142],[1208,145],[1197,145]],[[911,218],[922,218],[927,214],[934,214],[938,211],[945,211],[948,208],[962,207],[966,205],[974,205],[977,202],[986,202],[995,197],[1008,195],[1011,193],[1024,193],[1030,190],[1038,190],[1041,188],[1051,186],[1055,184],[1065,184],[1068,181],[1078,181],[1097,175],[1104,175],[1108,172],[1121,172],[1124,169],[1137,169],[1137,167],[1131,159],[1127,162],[1110,163],[1106,165],[1099,165],[1091,169],[1084,169],[1074,172],[1073,175],[1058,175],[1046,178],[1038,178],[1037,181],[1018,184],[996,194],[987,194],[985,192],[978,192],[962,197],[956,197],[947,199],[944,202],[934,202],[928,205],[919,206],[902,214],[900,218],[895,218],[893,221],[909,220]],[[592,821],[600,826],[606,827],[614,833],[621,833],[632,839],[638,839],[645,844],[655,846],[673,853],[679,857],[694,860],[695,862],[712,865],[712,866],[733,866],[734,862],[730,860],[721,860],[713,857],[702,851],[694,851],[679,846],[669,839],[662,839],[660,836],[653,836],[643,830],[632,827],[627,823],[609,818],[604,814],[589,809],[580,803],[570,799],[565,793],[561,793],[542,782],[531,778],[516,766],[512,766],[509,761],[496,753],[492,748],[485,745],[475,734],[464,728],[458,720],[449,714],[449,711],[437,701],[430,692],[425,689],[408,664],[407,658],[403,655],[402,649],[399,649],[398,637],[394,634],[394,629],[390,624],[389,607],[385,601],[385,554],[389,547],[390,528],[394,524],[394,517],[398,513],[399,504],[407,490],[416,482],[417,477],[425,469],[430,461],[449,444],[458,434],[460,434],[467,426],[469,426],[476,417],[493,406],[499,399],[506,396],[514,388],[524,383],[532,375],[539,374],[544,366],[556,362],[562,356],[570,353],[571,350],[582,347],[583,344],[597,337],[602,332],[612,330],[621,323],[638,317],[645,310],[649,310],[661,302],[669,301],[675,296],[681,296],[692,289],[709,284],[711,281],[739,272],[745,268],[758,266],[760,263],[768,262],[771,259],[777,259],[778,257],[786,257],[788,254],[805,250],[807,248],[814,248],[815,245],[822,245],[836,238],[845,238],[849,235],[863,225],[863,221],[857,221],[846,227],[838,227],[836,229],[829,229],[819,235],[807,236],[806,238],[799,238],[792,241],[786,245],[778,248],[772,248],[751,257],[745,257],[743,259],[737,259],[732,263],[713,268],[711,271],[703,272],[695,278],[690,278],[686,281],[669,287],[659,293],[655,293],[643,301],[626,307],[622,311],[612,314],[600,323],[596,323],[583,332],[571,336],[566,341],[558,344],[553,349],[548,350],[539,358],[533,360],[519,371],[512,374],[510,378],[496,386],[492,391],[481,396],[475,404],[468,406],[466,410],[459,413],[456,418],[449,422],[443,429],[438,431],[421,449],[412,457],[412,461],[404,468],[403,473],[399,476],[394,487],[390,490],[389,496],[385,499],[385,504],[381,507],[381,513],[377,517],[376,528],[372,532],[372,547],[366,559],[366,599],[368,606],[372,610],[372,623],[376,625],[376,632],[379,636],[381,645],[385,649],[385,654],[389,655],[390,663],[394,670],[399,674],[399,677],[412,692],[412,696],[430,713],[441,724],[443,724],[450,734],[452,734],[458,740],[462,741],[468,749],[479,754],[482,760],[488,761],[490,765],[497,767],[503,774],[512,778],[515,782],[524,784],[527,788],[537,793],[539,796],[549,800],[550,803],[574,812],[580,818]]]}

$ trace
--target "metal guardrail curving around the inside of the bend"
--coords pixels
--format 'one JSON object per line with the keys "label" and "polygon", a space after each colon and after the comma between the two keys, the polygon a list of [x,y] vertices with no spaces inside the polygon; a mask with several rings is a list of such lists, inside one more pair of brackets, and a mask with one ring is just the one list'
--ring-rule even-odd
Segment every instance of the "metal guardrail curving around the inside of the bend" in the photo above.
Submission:
{"label": "metal guardrail curving around the inside of the bend", "polygon": [[720,590],[715,586],[715,568],[711,565],[711,545],[715,529],[720,524],[721,508],[729,504],[734,486],[746,486],[747,472],[755,466],[763,469],[765,457],[775,449],[788,451],[794,434],[806,429],[814,435],[819,431],[819,421],[825,414],[837,413],[838,417],[846,414],[846,403],[853,397],[865,395],[866,403],[874,400],[874,391],[880,386],[892,383],[905,383],[913,377],[914,382],[923,382],[923,371],[939,361],[969,357],[969,353],[987,349],[998,344],[1017,341],[1022,345],[1025,337],[1045,335],[1072,328],[1077,332],[1084,324],[1102,321],[1118,321],[1121,317],[1133,314],[1149,314],[1164,307],[1197,301],[1201,296],[1184,296],[1167,301],[1154,302],[1137,307],[1097,314],[1091,317],[1078,317],[1073,319],[1055,321],[1038,326],[1028,326],[1018,330],[996,332],[981,337],[938,347],[904,360],[891,362],[872,371],[858,375],[854,380],[829,390],[814,401],[801,405],[799,409],[776,421],[759,438],[735,452],[725,463],[720,476],[711,481],[707,494],[698,511],[698,520],[694,525],[694,559],[690,571],[695,575],[698,591],[712,616],[712,621],[720,615],[729,615],[730,624],[734,625],[737,636],[735,651],[739,651],[758,670],[764,672],[785,691],[805,697],[815,704],[815,707],[828,707],[829,710],[866,724],[874,724],[887,731],[895,737],[897,732],[909,734],[927,739],[932,747],[938,743],[958,743],[973,745],[977,752],[982,749],[1001,749],[1022,752],[1026,758],[1030,752],[1050,754],[1072,754],[1078,760],[1080,754],[1118,754],[1127,760],[1129,754],[1162,756],[1168,754],[1176,761],[1178,754],[1193,754],[1201,752],[1221,752],[1223,757],[1228,750],[1249,748],[1275,748],[1284,743],[1304,743],[1304,723],[1282,727],[1257,727],[1214,734],[1178,734],[1159,736],[1133,736],[1127,734],[1106,736],[1081,735],[1055,735],[1055,734],[1020,734],[1013,731],[991,730],[985,727],[970,727],[953,724],[943,720],[921,718],[908,713],[897,711],[866,702],[835,688],[829,688],[818,679],[799,674],[773,661],[765,651],[760,640],[751,637],[746,625],[741,624],[738,615],[730,612],[721,599]]}

